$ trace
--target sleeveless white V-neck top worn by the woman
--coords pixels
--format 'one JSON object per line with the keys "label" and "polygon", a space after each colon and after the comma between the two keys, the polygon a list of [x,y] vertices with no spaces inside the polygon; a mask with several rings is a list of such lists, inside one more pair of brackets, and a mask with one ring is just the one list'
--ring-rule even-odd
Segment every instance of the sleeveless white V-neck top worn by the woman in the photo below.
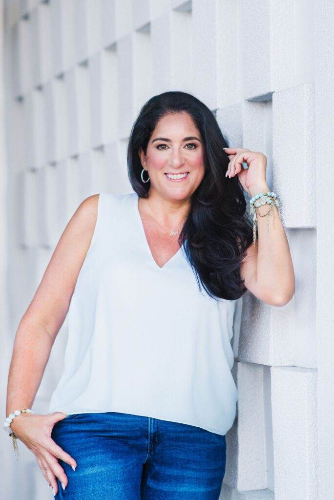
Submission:
{"label": "sleeveless white V-neck top worn by the woman", "polygon": [[183,246],[160,268],[138,195],[101,193],[49,412],[116,411],[225,434],[236,411],[230,341],[239,300],[200,291]]}

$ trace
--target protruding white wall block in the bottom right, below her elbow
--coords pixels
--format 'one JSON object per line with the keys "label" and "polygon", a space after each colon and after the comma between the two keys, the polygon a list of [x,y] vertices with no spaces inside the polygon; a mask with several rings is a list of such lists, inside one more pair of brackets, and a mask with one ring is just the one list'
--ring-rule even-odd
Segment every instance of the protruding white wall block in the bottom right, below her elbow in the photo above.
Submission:
{"label": "protruding white wall block in the bottom right, below her elbow", "polygon": [[271,367],[275,500],[316,500],[316,370]]}

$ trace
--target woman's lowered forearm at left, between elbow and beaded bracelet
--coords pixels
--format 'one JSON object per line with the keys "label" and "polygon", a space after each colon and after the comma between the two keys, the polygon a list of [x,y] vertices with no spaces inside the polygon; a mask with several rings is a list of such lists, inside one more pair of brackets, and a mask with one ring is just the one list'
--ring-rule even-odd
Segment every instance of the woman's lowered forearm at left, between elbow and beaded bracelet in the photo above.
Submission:
{"label": "woman's lowered forearm at left, between elbow and beaded bracelet", "polygon": [[24,318],[18,326],[9,367],[6,414],[31,408],[53,340],[45,327]]}

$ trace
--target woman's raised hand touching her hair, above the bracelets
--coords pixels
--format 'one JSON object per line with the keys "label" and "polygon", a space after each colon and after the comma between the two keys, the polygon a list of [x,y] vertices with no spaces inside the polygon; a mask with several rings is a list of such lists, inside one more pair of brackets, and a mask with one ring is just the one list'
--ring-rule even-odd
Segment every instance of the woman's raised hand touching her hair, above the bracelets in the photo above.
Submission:
{"label": "woman's raised hand touching her hair, above the bracelets", "polygon": [[[228,154],[228,167],[226,177],[237,175],[242,187],[252,196],[251,192],[256,186],[266,185],[265,169],[266,156],[261,152],[250,151],[243,147],[226,147]],[[243,168],[242,163],[247,163],[248,168]]]}

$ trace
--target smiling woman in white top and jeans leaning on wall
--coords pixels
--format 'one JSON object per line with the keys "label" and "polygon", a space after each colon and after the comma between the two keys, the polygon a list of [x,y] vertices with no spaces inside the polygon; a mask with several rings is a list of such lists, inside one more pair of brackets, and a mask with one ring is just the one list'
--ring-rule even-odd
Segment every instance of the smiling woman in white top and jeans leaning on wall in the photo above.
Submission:
{"label": "smiling woman in white top and jeans leaning on wall", "polygon": [[[272,305],[291,299],[287,239],[266,157],[227,147],[190,94],[146,102],[127,160],[135,192],[80,204],[20,321],[7,423],[57,498],[213,500],[237,400],[236,299],[246,289]],[[241,186],[264,205],[252,207],[256,242]],[[50,414],[13,417],[31,407],[67,311]]]}

